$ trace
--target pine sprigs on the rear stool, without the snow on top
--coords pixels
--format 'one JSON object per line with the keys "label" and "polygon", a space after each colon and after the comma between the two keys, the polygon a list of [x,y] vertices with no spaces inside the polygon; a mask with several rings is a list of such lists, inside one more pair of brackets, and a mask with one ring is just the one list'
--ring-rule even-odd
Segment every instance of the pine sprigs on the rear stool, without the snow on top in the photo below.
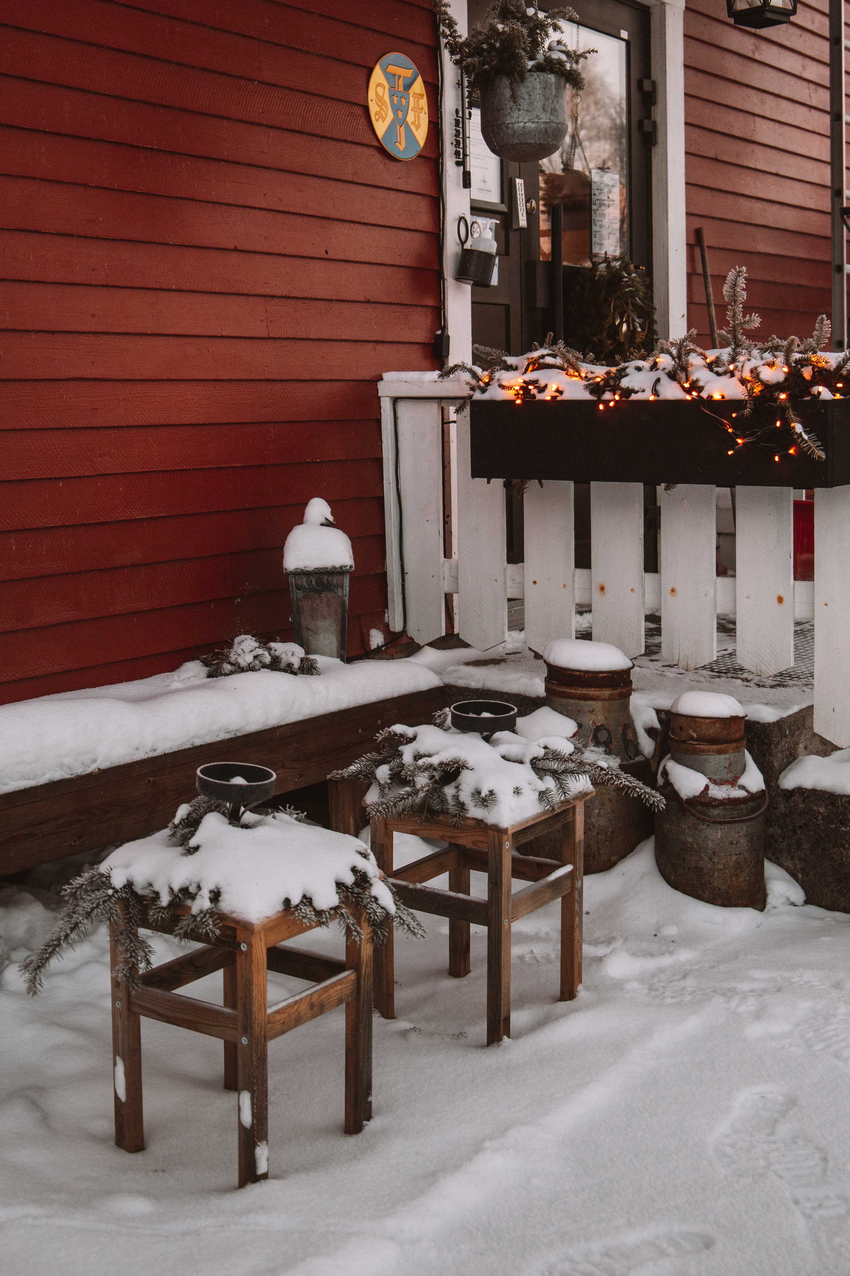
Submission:
{"label": "pine sprigs on the rear stool, without the snow on top", "polygon": [[[433,725],[446,731],[446,755],[437,762],[427,752],[413,760],[405,760],[403,749],[412,743],[415,729],[393,726],[378,732],[376,750],[358,758],[350,767],[333,772],[330,778],[368,780],[373,785],[376,795],[367,803],[370,819],[409,814],[421,814],[423,818],[426,814],[449,815],[456,826],[465,819],[480,819],[482,814],[496,805],[498,795],[492,789],[477,787],[472,791],[470,803],[460,799],[455,781],[463,771],[472,771],[472,767],[463,750],[454,757],[450,754],[452,740],[460,744],[463,736],[450,734],[447,723],[447,711],[442,709],[435,716]],[[584,791],[587,783],[618,789],[631,798],[638,798],[654,810],[664,808],[664,799],[659,792],[618,767],[605,766],[590,750],[579,745],[572,752],[549,744],[540,748],[542,753],[529,758],[529,764],[538,780],[552,781],[551,787],[542,787],[538,792],[543,810],[553,810],[562,801]],[[522,790],[516,787],[514,794],[521,796]]]}

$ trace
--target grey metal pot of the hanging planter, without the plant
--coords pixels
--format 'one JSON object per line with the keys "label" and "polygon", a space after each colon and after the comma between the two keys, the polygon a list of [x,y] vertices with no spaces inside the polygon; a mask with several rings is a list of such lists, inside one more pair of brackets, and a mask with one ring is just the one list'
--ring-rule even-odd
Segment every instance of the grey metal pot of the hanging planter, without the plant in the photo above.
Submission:
{"label": "grey metal pot of the hanging planter, without the plant", "polygon": [[565,80],[551,71],[529,71],[511,84],[496,75],[480,89],[482,135],[502,160],[545,160],[567,134]]}

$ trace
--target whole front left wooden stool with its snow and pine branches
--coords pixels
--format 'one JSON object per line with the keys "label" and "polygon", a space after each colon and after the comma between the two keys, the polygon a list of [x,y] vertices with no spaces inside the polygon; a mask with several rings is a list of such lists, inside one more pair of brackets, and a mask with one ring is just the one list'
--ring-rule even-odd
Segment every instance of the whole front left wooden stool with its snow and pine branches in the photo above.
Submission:
{"label": "whole front left wooden stool with its snow and pine branches", "polygon": [[[224,1042],[224,1087],[238,1091],[238,1183],[268,1178],[268,1042],[345,1005],[345,1133],[371,1116],[372,938],[393,924],[422,928],[396,902],[371,851],[354,837],[305,824],[297,813],[245,812],[205,798],[172,824],[112,851],[65,889],[66,909],[40,952],[24,963],[37,991],[47,962],[88,926],[110,920],[115,1141],[144,1148],[140,1017]],[[284,940],[338,920],[345,958]],[[153,967],[139,928],[205,940]],[[224,1004],[175,990],[222,970]],[[268,1005],[266,970],[316,986]]]}

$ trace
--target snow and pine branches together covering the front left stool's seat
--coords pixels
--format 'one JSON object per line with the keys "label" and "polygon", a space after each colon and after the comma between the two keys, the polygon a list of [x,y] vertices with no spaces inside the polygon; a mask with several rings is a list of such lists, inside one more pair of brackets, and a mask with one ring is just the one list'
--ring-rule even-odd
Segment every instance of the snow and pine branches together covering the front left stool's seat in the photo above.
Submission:
{"label": "snow and pine branches together covering the front left stool's seat", "polygon": [[[150,940],[136,929],[145,914],[158,925],[168,923],[177,939],[201,943],[215,943],[219,911],[257,921],[282,909],[311,925],[336,920],[357,942],[362,931],[353,909],[368,917],[376,943],[393,925],[424,934],[362,842],[305,819],[287,808],[266,815],[246,810],[237,823],[226,803],[185,803],[167,829],[127,842],[68,883],[56,926],[20,967],[27,990],[36,995],[54,957],[98,921],[119,924],[117,976],[138,986],[139,971],[153,967]],[[178,911],[185,906],[189,912]]]}

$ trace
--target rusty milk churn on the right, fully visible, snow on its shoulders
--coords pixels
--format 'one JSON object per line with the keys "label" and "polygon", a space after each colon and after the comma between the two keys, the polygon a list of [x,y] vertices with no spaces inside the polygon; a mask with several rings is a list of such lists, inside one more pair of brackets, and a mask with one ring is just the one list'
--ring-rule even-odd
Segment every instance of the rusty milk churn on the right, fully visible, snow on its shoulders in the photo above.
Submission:
{"label": "rusty milk churn on the right, fully visible, snow on its shoulders", "polygon": [[747,753],[731,695],[686,692],[670,709],[666,799],[655,815],[655,861],[683,894],[726,909],[765,907],[765,781]]}

